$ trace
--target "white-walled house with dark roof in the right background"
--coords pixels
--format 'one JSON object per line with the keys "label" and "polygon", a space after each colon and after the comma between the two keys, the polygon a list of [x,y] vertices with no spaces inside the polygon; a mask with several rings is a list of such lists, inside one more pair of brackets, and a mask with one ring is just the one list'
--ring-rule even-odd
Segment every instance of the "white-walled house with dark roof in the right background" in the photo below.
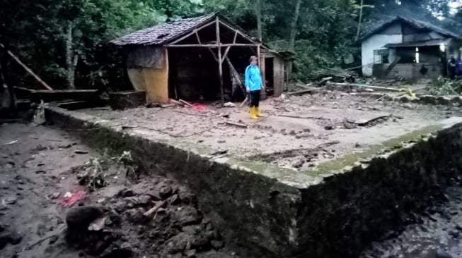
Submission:
{"label": "white-walled house with dark roof in the right background", "polygon": [[376,78],[437,78],[447,75],[449,56],[461,56],[462,37],[397,16],[362,39],[362,73]]}

